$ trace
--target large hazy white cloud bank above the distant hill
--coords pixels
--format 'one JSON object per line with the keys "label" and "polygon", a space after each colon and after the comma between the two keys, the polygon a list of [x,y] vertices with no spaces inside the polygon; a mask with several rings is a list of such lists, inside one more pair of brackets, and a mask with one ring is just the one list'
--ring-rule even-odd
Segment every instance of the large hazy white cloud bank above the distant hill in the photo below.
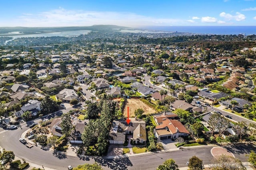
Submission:
{"label": "large hazy white cloud bank above the distant hill", "polygon": [[[1,24],[6,24],[2,23]],[[83,10],[66,10],[58,8],[38,14],[23,14],[11,26],[44,27],[44,26],[91,26],[94,24],[114,24],[119,26],[148,26],[148,25],[186,25],[186,20],[173,18],[154,18],[130,12],[98,12]],[[14,25],[15,24],[15,25]]]}

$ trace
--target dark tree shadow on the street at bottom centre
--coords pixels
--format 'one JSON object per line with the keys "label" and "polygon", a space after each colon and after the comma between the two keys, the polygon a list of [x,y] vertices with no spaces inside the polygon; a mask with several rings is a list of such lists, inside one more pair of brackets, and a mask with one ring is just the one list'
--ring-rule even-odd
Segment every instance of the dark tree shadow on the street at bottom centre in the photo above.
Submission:
{"label": "dark tree shadow on the street at bottom centre", "polygon": [[127,170],[128,166],[133,166],[129,158],[118,159],[94,159],[101,166],[106,166],[112,170]]}

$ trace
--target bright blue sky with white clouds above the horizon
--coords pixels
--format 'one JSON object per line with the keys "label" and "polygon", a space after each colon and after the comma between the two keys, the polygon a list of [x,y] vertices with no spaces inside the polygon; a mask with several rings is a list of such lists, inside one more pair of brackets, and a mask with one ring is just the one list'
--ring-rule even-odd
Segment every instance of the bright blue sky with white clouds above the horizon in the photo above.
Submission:
{"label": "bright blue sky with white clouds above the horizon", "polygon": [[256,26],[256,0],[3,0],[0,27]]}

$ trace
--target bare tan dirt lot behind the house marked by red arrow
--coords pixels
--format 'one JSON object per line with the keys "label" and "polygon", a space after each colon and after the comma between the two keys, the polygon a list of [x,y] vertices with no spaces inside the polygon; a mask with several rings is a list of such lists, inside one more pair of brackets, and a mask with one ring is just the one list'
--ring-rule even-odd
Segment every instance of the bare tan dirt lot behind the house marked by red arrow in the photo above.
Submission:
{"label": "bare tan dirt lot behind the house marked by red arrow", "polygon": [[155,113],[156,111],[140,101],[140,99],[127,99],[125,108],[124,108],[124,116],[127,117],[127,107],[129,107],[129,117],[135,117],[134,111],[136,109],[143,109],[144,114]]}

